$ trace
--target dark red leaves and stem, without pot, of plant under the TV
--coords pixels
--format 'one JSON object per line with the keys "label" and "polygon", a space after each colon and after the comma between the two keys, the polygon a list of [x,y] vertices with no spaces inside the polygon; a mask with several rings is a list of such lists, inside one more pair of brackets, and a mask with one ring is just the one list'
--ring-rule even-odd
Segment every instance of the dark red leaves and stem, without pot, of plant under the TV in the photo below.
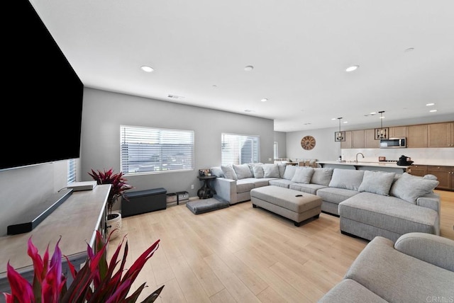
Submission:
{"label": "dark red leaves and stem, without pot, of plant under the TV", "polygon": [[109,198],[107,199],[107,219],[114,219],[112,217],[112,207],[114,203],[119,197],[123,197],[126,200],[126,195],[124,195],[126,190],[130,190],[134,188],[133,186],[129,185],[126,178],[123,177],[123,172],[114,173],[114,169],[111,168],[109,171],[94,171],[88,173],[92,176],[93,180],[96,181],[97,184],[111,184],[111,191],[109,192]]}

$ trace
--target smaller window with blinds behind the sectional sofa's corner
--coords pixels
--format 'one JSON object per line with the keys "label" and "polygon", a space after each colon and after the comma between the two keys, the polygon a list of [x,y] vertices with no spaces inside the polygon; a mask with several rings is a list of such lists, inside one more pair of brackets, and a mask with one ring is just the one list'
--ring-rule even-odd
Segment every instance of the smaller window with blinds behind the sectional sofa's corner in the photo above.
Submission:
{"label": "smaller window with blinds behind the sectional sofa's corner", "polygon": [[260,162],[260,137],[221,134],[221,163],[247,164]]}

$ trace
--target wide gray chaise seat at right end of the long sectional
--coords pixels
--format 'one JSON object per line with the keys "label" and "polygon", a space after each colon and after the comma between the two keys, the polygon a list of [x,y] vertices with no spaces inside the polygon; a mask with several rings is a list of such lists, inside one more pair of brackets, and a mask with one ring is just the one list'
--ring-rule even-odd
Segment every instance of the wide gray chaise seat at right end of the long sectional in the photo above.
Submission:
{"label": "wide gray chaise seat at right end of the long sectional", "polygon": [[439,218],[435,210],[391,196],[358,193],[339,204],[339,215],[397,234],[412,231],[439,233]]}

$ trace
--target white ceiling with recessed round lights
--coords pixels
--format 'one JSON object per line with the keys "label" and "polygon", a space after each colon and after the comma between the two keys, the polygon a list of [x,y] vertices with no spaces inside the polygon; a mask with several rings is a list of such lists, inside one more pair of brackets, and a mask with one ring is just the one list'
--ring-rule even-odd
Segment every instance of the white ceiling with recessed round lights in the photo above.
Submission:
{"label": "white ceiling with recessed round lights", "polygon": [[87,87],[270,118],[281,132],[338,117],[378,126],[367,114],[380,110],[394,125],[454,120],[453,0],[31,3]]}

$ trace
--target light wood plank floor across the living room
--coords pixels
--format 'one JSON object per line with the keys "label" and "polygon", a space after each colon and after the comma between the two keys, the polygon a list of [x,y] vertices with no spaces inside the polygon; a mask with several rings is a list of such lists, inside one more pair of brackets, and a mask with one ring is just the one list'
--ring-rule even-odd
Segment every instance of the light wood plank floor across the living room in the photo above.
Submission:
{"label": "light wood plank floor across the living room", "polygon": [[[454,192],[441,195],[441,236],[454,239]],[[134,287],[156,302],[316,302],[340,282],[367,241],[321,214],[295,227],[250,202],[193,215],[185,205],[123,218],[128,265],[160,239]],[[109,256],[122,237],[109,244]]]}

